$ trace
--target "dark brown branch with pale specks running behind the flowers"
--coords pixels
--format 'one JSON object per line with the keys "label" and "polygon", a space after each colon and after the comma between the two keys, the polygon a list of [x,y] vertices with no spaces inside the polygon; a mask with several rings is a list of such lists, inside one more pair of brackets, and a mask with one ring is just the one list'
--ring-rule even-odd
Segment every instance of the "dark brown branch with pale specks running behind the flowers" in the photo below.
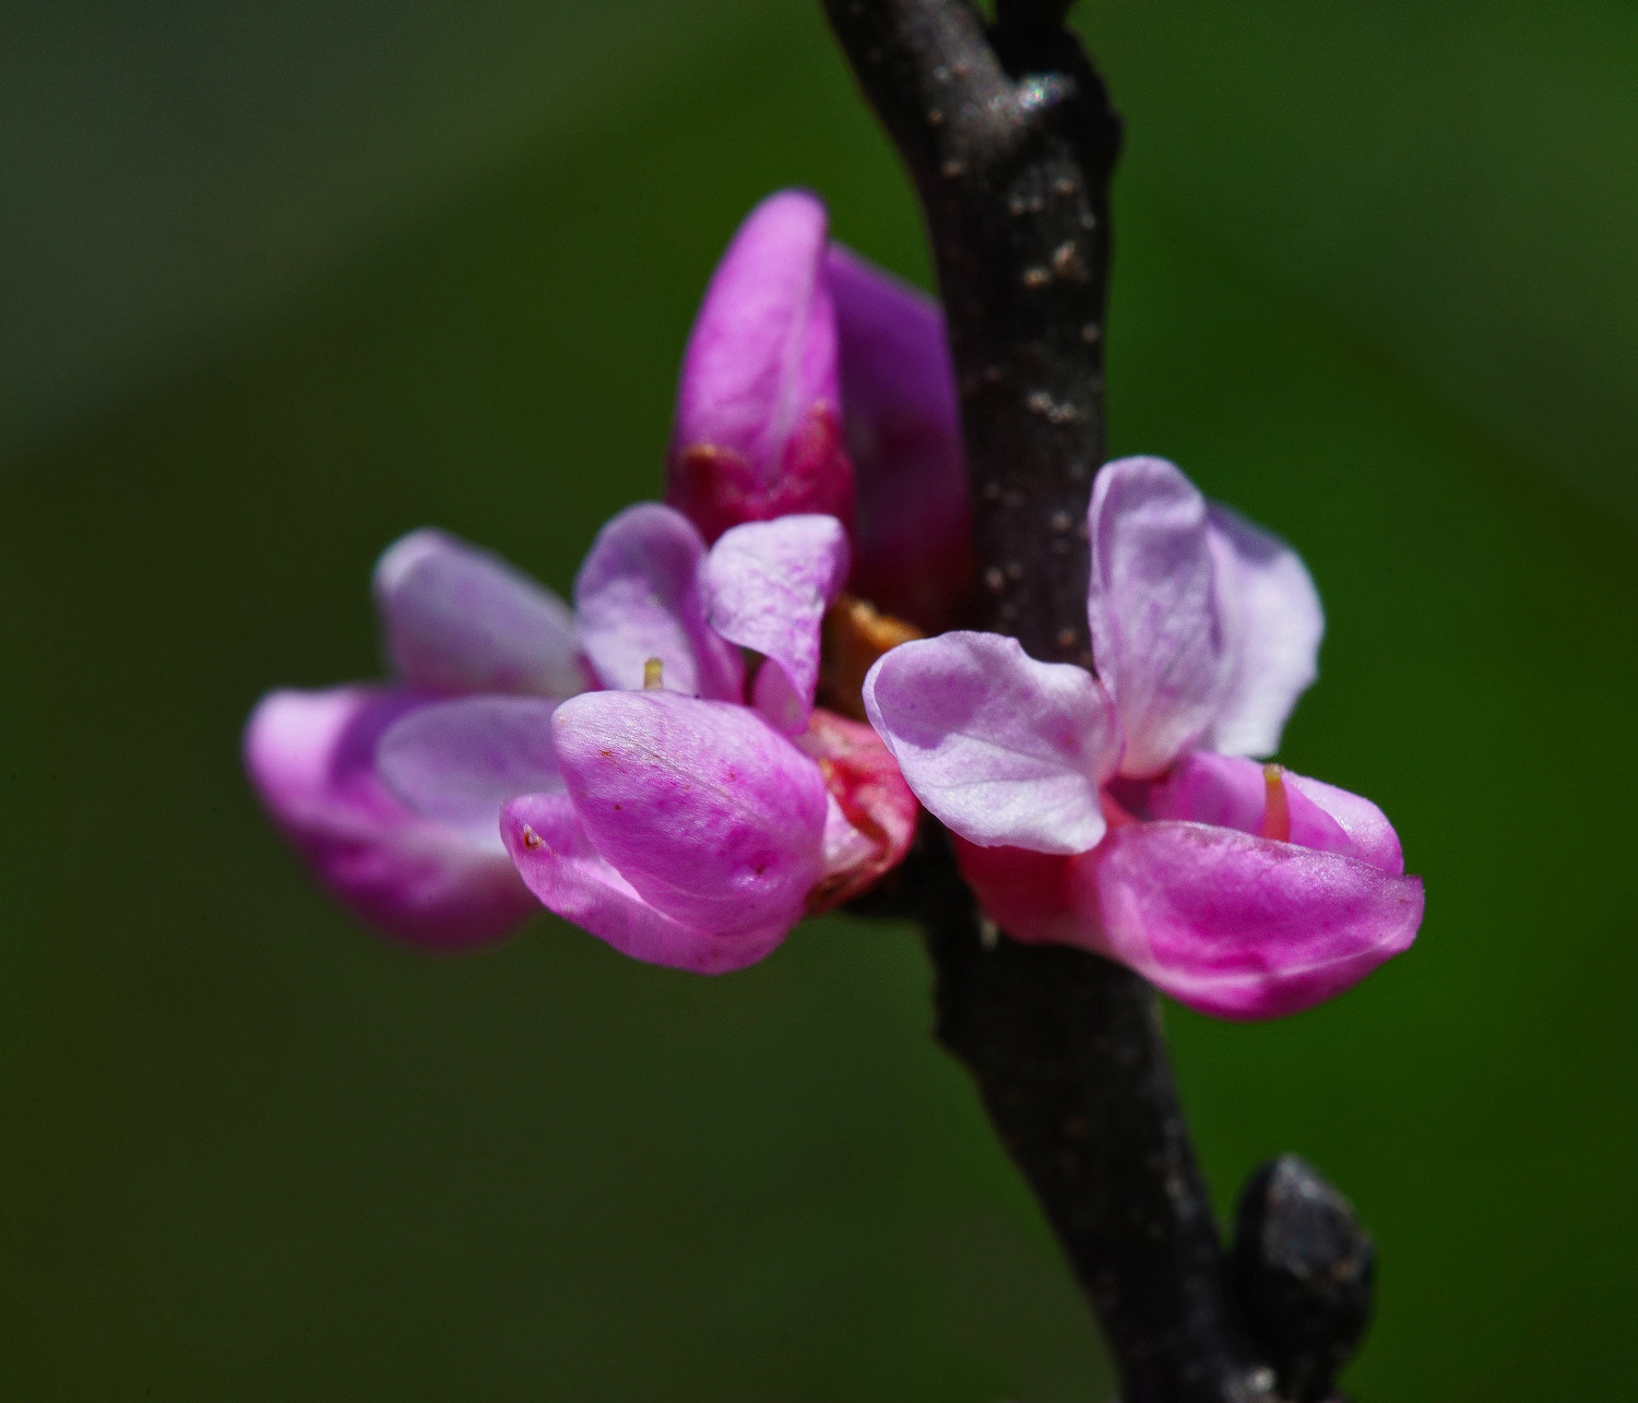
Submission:
{"label": "dark brown branch with pale specks running behind the flowers", "polygon": [[[999,0],[988,29],[965,0],[824,3],[927,218],[988,624],[1038,658],[1091,666],[1084,521],[1104,452],[1119,120],[1061,26],[1066,0]],[[939,1038],[1096,1306],[1122,1398],[1274,1398],[1291,1370],[1242,1324],[1153,992],[1094,954],[984,941],[930,820],[921,848],[878,902],[911,902],[927,928]]]}

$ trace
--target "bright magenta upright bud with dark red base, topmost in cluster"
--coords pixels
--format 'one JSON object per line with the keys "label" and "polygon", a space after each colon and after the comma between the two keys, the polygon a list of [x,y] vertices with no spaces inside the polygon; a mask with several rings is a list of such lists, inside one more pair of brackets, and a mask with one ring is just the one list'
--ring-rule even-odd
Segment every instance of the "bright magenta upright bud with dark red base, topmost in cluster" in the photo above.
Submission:
{"label": "bright magenta upright bud with dark red base, topmost in cluster", "polygon": [[667,499],[714,540],[742,521],[852,521],[826,211],[785,190],[740,224],[683,355]]}

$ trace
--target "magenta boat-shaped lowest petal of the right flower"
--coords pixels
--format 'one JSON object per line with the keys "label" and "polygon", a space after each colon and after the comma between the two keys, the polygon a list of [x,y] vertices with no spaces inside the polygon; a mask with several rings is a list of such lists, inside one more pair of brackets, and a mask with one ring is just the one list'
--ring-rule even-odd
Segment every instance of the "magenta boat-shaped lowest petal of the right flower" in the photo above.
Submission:
{"label": "magenta boat-shaped lowest petal of the right flower", "polygon": [[1358,984],[1415,940],[1422,882],[1202,823],[1132,823],[1078,861],[1076,943],[1202,1013],[1273,1018]]}

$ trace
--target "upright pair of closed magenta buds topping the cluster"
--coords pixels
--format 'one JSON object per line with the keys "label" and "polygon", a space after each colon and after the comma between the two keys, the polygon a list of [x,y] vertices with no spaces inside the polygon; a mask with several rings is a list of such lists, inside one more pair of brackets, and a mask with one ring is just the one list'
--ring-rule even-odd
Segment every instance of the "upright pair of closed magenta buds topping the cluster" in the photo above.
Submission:
{"label": "upright pair of closed magenta buds topping the cluster", "polygon": [[832,246],[812,195],[763,200],[711,278],[667,499],[708,542],[747,521],[835,516],[853,539],[853,593],[921,627],[943,627],[971,588],[943,316]]}

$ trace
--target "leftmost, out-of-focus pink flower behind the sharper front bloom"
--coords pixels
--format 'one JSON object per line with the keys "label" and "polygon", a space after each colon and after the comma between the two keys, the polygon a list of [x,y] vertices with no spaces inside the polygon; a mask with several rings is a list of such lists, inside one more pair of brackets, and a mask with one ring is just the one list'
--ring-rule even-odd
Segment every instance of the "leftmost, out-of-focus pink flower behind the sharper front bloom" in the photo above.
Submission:
{"label": "leftmost, out-of-focus pink flower behind the sharper front bloom", "polygon": [[[436,530],[390,547],[373,593],[395,681],[269,692],[246,725],[246,769],[274,822],[367,922],[436,948],[493,940],[537,909],[496,815],[555,774],[554,697],[590,684],[573,620],[550,591]],[[378,758],[398,727],[436,727],[444,699],[460,696],[505,743],[434,817],[388,784]]]}

